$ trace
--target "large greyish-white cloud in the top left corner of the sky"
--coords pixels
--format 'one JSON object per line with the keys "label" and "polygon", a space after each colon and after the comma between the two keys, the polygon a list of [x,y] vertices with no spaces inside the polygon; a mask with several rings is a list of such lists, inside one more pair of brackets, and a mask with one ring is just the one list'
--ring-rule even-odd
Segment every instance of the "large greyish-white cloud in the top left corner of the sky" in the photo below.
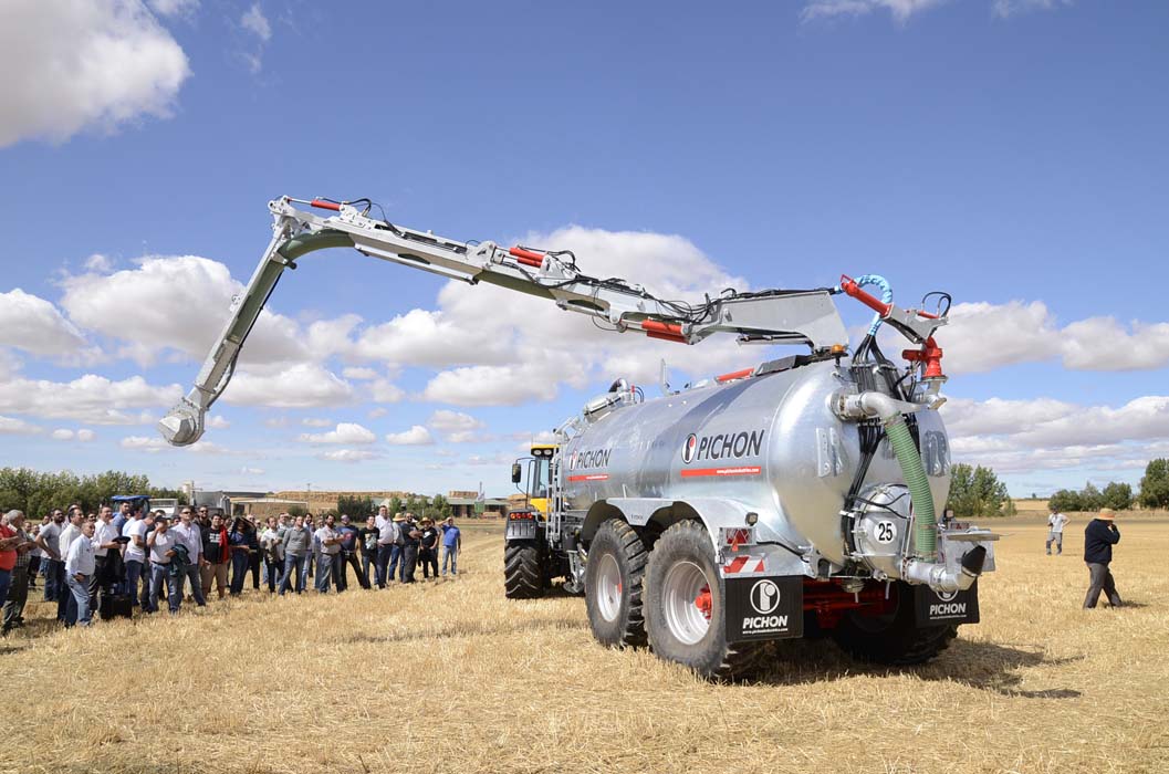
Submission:
{"label": "large greyish-white cloud in the top left corner of the sky", "polygon": [[182,48],[138,0],[0,4],[0,147],[168,117],[191,75]]}

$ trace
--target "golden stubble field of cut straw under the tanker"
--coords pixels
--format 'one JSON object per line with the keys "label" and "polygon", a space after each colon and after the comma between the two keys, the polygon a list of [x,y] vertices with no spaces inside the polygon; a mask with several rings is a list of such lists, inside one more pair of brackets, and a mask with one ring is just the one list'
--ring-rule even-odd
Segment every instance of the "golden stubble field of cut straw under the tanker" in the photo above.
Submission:
{"label": "golden stubble field of cut straw under the tanker", "polygon": [[729,685],[596,645],[579,597],[505,600],[498,528],[414,587],[71,631],[36,603],[0,642],[0,770],[1167,772],[1169,520],[1119,525],[1127,608],[1080,609],[1082,518],[1063,557],[995,521],[983,622],[935,662],[790,643]]}

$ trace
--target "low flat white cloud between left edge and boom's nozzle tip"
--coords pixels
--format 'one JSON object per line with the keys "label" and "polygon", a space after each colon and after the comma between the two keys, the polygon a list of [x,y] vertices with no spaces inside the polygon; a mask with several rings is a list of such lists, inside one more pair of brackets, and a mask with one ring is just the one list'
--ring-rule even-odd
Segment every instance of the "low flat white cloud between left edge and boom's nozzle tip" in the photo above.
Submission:
{"label": "low flat white cloud between left edge and boom's nozzle tip", "polygon": [[172,406],[181,394],[179,385],[155,387],[141,376],[111,381],[85,374],[69,382],[9,379],[0,381],[0,410],[89,424],[144,424],[157,416],[126,409]]}

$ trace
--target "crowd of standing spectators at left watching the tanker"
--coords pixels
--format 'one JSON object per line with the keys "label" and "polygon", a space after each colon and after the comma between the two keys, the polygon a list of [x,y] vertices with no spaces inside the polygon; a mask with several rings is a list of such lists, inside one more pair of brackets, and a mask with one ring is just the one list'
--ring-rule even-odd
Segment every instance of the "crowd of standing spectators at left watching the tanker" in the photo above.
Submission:
{"label": "crowd of standing spectators at left watching the tanker", "polygon": [[440,558],[441,574],[457,575],[461,550],[452,518],[436,525],[385,506],[361,526],[348,514],[282,513],[258,524],[206,506],[181,506],[172,517],[130,503],[88,516],[72,505],[30,525],[14,510],[0,519],[0,630],[23,626],[37,580],[62,624],[89,626],[103,609],[157,613],[165,603],[173,614],[185,599],[206,606],[213,586],[219,599],[238,596],[249,574],[253,589],[281,596],[307,590],[310,580],[318,593],[345,592],[350,571],[364,589],[413,583],[419,564],[423,579],[437,579]]}

